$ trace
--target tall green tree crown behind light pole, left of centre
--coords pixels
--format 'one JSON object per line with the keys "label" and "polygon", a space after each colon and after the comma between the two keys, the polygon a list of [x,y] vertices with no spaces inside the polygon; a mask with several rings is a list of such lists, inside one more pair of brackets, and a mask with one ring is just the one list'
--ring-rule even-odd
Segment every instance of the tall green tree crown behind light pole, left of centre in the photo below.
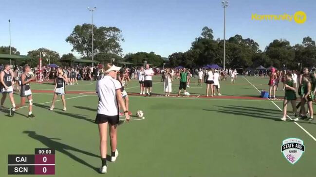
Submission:
{"label": "tall green tree crown behind light pole, left of centre", "polygon": [[[76,25],[66,42],[73,46],[83,57],[92,56],[92,28],[91,24]],[[99,27],[93,25],[93,52],[121,54],[120,42],[124,41],[122,31],[116,27]]]}

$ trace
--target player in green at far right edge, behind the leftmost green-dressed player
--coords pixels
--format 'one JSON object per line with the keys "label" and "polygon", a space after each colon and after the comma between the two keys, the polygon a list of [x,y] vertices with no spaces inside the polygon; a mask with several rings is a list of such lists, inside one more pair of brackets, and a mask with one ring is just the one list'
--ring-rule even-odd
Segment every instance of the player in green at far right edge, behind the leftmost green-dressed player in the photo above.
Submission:
{"label": "player in green at far right edge, behind the leftmost green-dressed player", "polygon": [[[312,92],[312,84],[311,84],[311,78],[308,74],[304,74],[302,78],[302,87],[304,88],[304,97],[301,100],[301,108],[303,119],[304,120],[314,120],[313,118],[313,100],[314,100],[314,93]],[[306,111],[305,111],[305,103],[307,103],[307,107],[310,113],[310,117],[307,117]]]}

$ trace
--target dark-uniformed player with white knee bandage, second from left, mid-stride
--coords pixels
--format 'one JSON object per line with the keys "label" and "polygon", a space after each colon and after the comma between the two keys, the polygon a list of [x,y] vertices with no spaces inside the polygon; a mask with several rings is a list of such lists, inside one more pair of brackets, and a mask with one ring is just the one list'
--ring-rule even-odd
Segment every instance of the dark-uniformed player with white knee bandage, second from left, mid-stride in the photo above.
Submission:
{"label": "dark-uniformed player with white knee bandage, second from left, mid-stride", "polygon": [[21,80],[21,88],[20,88],[20,97],[21,97],[21,103],[16,108],[10,108],[11,116],[14,115],[14,112],[16,110],[19,110],[20,107],[22,107],[25,104],[25,97],[29,100],[29,118],[34,118],[34,114],[32,113],[32,105],[33,105],[33,99],[32,99],[32,91],[30,87],[30,82],[32,80],[36,80],[36,78],[31,76],[29,74],[30,72],[30,66],[24,66],[23,67],[23,74],[20,76]]}

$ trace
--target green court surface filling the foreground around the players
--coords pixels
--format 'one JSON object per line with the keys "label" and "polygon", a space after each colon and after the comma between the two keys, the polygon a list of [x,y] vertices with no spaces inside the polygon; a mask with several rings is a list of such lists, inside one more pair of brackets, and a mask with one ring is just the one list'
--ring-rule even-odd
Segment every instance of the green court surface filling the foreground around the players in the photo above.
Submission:
{"label": "green court surface filling the foreground around the players", "polygon": [[[173,81],[173,95],[178,82]],[[56,177],[315,176],[315,121],[280,121],[282,100],[258,98],[260,90],[268,89],[267,78],[238,76],[235,84],[220,83],[222,97],[203,97],[206,86],[198,86],[195,78],[187,89],[192,97],[143,97],[132,94],[140,92],[138,82],[132,80],[126,87],[131,93],[130,111],[142,110],[145,119],[133,117],[119,126],[120,154],[116,162],[108,161],[107,174],[97,172],[101,160],[93,123],[98,101],[95,82],[67,86],[66,112],[61,101],[54,111],[48,110],[53,94],[46,92],[54,85],[33,83],[36,118],[26,118],[27,108],[14,117],[7,111],[0,114],[0,177],[8,176],[8,154],[34,154],[34,148],[44,147],[56,149]],[[153,93],[163,94],[159,77],[154,78]],[[277,96],[283,94],[278,91]],[[15,98],[19,103],[19,96]],[[9,100],[5,106],[10,107]],[[293,118],[292,112],[289,115]],[[282,141],[293,137],[305,145],[294,165],[281,153]]]}

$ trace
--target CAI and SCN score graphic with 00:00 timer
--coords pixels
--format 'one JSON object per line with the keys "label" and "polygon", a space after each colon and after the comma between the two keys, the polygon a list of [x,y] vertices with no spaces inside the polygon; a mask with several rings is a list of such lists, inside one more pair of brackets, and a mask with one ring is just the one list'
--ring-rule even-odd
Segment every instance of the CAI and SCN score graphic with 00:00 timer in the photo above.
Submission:
{"label": "CAI and SCN score graphic with 00:00 timer", "polygon": [[35,155],[8,155],[8,175],[55,175],[55,149],[36,148]]}

